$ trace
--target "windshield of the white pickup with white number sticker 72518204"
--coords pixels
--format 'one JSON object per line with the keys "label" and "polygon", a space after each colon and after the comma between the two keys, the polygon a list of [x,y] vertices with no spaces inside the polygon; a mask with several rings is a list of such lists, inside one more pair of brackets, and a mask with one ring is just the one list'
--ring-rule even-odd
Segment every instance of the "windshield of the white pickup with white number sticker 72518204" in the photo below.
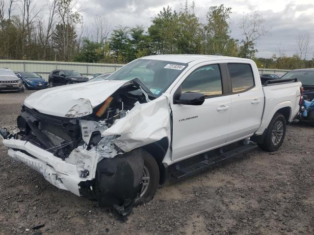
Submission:
{"label": "windshield of the white pickup with white number sticker 72518204", "polygon": [[108,77],[108,80],[131,80],[137,77],[156,96],[167,90],[182,73],[187,64],[138,59],[122,67]]}

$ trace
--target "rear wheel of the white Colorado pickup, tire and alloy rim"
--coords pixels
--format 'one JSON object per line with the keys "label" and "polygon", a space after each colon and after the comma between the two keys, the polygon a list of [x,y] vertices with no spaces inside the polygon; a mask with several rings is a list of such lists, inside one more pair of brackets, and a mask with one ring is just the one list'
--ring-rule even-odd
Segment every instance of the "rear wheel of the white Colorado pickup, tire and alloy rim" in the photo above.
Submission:
{"label": "rear wheel of the white Colorado pickup, tire and alloy rim", "polygon": [[[278,129],[280,125],[282,128]],[[285,140],[286,130],[286,118],[282,114],[276,113],[267,127],[263,143],[259,144],[260,148],[269,152],[278,150]],[[281,139],[279,139],[280,136]]]}

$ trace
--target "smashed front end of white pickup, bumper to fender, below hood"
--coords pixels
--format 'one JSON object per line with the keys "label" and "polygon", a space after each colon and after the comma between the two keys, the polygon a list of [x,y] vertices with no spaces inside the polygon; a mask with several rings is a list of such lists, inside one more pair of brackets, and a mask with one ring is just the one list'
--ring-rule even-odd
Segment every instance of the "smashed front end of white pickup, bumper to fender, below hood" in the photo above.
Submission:
{"label": "smashed front end of white pickup, bumper to fender, below hood", "polygon": [[39,112],[26,98],[17,118],[19,132],[1,129],[3,144],[11,158],[57,188],[96,196],[100,206],[128,215],[142,187],[139,147],[171,136],[167,97],[150,101],[144,90],[125,82],[99,103],[72,100],[62,115]]}

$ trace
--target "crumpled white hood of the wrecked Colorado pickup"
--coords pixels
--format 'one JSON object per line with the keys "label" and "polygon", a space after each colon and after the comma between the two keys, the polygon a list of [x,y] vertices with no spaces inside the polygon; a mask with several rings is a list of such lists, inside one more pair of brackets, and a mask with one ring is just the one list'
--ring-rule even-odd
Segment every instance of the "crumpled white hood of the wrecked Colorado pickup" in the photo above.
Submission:
{"label": "crumpled white hood of the wrecked Colorado pickup", "polygon": [[41,90],[26,97],[24,105],[43,114],[78,118],[89,115],[120,87],[131,81],[78,83]]}

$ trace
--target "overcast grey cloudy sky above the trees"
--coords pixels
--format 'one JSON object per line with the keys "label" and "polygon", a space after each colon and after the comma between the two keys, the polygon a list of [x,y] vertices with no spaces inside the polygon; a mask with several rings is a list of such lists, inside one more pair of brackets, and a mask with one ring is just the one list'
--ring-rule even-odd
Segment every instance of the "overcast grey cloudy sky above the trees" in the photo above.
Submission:
{"label": "overcast grey cloudy sky above the trees", "polygon": [[[149,26],[152,18],[167,5],[179,10],[185,0],[78,0],[85,2],[83,13],[86,28],[91,28],[95,15],[104,16],[115,27]],[[36,0],[37,5],[45,1]],[[189,0],[191,3],[192,0]],[[195,13],[204,21],[210,6],[224,4],[232,7],[230,19],[232,36],[241,39],[238,24],[243,13],[260,12],[267,21],[270,35],[257,44],[258,56],[269,58],[278,54],[279,46],[288,55],[297,50],[296,37],[300,31],[309,31],[312,36],[311,54],[314,52],[314,0],[195,0]]]}

